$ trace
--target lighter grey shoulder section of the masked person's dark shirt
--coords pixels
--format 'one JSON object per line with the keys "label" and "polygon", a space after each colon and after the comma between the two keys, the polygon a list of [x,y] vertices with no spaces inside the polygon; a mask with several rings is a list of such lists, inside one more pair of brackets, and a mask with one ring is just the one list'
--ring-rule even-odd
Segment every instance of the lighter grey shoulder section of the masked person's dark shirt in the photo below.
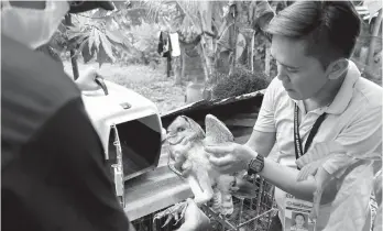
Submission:
{"label": "lighter grey shoulder section of the masked person's dark shirt", "polygon": [[1,35],[2,141],[21,146],[80,91],[61,65]]}

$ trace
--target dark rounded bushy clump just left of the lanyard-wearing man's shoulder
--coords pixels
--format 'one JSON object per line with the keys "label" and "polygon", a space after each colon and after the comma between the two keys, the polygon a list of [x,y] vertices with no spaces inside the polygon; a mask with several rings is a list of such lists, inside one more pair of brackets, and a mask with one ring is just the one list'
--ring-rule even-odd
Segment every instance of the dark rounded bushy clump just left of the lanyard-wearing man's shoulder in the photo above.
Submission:
{"label": "dark rounded bushy clump just left of the lanyard-wearing man's shoulder", "polygon": [[270,84],[269,77],[264,73],[251,73],[243,66],[238,66],[230,76],[222,75],[221,77],[220,81],[212,89],[215,99],[254,92],[265,89]]}

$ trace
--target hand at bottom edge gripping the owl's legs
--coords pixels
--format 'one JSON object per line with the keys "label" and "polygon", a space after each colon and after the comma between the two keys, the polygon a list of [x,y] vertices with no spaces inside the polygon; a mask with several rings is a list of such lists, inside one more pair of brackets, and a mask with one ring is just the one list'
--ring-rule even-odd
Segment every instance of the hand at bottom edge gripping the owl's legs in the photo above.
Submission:
{"label": "hand at bottom edge gripping the owl's legs", "polygon": [[210,220],[197,207],[196,202],[188,198],[185,211],[185,222],[177,231],[207,231],[210,228]]}

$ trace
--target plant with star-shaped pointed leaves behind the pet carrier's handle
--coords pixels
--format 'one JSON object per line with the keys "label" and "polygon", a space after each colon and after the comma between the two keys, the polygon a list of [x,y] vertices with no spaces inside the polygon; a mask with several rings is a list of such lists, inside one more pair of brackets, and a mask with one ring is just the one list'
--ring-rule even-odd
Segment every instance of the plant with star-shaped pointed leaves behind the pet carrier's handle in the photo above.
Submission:
{"label": "plant with star-shaped pointed leaves behind the pet carrier's handle", "polygon": [[[118,55],[129,51],[131,41],[123,31],[132,25],[141,24],[144,9],[131,9],[130,1],[116,1],[117,11],[102,9],[70,14],[72,25],[65,25],[65,20],[54,37],[50,47],[56,53],[67,56],[67,51],[75,50],[75,56],[81,55],[85,63],[92,59],[99,63],[114,63]],[[62,55],[63,56],[63,55]]]}

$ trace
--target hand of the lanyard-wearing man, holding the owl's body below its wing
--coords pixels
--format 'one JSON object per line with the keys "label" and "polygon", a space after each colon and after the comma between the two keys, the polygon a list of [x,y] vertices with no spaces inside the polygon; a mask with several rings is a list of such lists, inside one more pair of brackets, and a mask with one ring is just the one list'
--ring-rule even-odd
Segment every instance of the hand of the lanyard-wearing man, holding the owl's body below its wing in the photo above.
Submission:
{"label": "hand of the lanyard-wearing man, holding the owl's body below its wing", "polygon": [[232,174],[248,169],[250,161],[256,157],[258,153],[247,145],[226,143],[217,146],[206,146],[210,163],[222,174]]}

